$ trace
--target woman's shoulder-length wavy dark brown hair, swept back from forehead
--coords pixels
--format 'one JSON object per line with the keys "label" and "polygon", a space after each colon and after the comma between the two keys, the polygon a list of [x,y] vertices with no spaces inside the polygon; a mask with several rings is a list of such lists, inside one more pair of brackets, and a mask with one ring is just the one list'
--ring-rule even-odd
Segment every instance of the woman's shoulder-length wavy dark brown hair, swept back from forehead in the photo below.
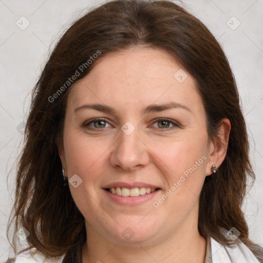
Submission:
{"label": "woman's shoulder-length wavy dark brown hair, swept back from forehead", "polygon": [[[247,180],[254,181],[255,176],[234,76],[211,32],[196,17],[168,1],[108,2],[89,11],[61,37],[32,93],[16,177],[15,230],[26,228],[29,248],[47,257],[66,252],[69,257],[69,251],[85,242],[84,218],[69,187],[63,186],[58,154],[70,87],[65,83],[86,63],[76,80],[83,78],[96,64],[87,65],[87,60],[98,51],[103,57],[136,46],[166,51],[193,76],[211,140],[218,136],[220,120],[230,120],[226,158],[216,177],[206,177],[200,193],[198,230],[203,237],[211,235],[221,245],[231,246],[237,240],[229,241],[220,228],[235,227],[239,240],[263,262],[263,252],[249,239],[240,209]],[[63,85],[63,92],[58,93]],[[56,92],[58,96],[54,96]],[[15,235],[13,244],[15,249]]]}

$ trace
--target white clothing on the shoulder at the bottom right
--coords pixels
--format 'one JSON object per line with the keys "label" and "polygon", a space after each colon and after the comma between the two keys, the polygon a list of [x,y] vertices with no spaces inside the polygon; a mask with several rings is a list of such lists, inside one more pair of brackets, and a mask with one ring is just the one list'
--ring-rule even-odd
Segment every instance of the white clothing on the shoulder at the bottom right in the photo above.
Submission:
{"label": "white clothing on the shoulder at the bottom right", "polygon": [[[226,230],[222,229],[223,232]],[[211,237],[211,252],[213,263],[260,263],[252,251],[241,241],[233,248],[222,246]],[[231,261],[231,259],[233,261]]]}

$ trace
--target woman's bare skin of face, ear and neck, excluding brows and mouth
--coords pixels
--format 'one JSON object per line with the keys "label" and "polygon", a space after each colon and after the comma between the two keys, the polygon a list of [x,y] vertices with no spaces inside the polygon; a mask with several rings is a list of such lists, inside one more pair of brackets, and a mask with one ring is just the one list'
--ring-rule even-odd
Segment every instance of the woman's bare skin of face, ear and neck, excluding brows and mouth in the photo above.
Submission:
{"label": "woman's bare skin of face, ear and neck, excluding brows and mouth", "polygon": [[[220,166],[226,155],[230,122],[221,122],[221,142],[209,140],[194,79],[184,70],[188,77],[179,83],[174,74],[181,66],[169,57],[142,47],[110,53],[93,62],[95,67],[70,90],[59,153],[65,176],[82,179],[78,187],[69,187],[85,218],[84,263],[204,261],[206,240],[197,228],[199,194],[211,166]],[[189,110],[142,114],[148,105],[171,101]],[[116,112],[75,110],[89,103],[108,105]],[[93,118],[106,122],[85,125]],[[156,118],[171,119],[178,126]],[[135,128],[130,135],[121,129],[126,122]],[[206,159],[155,208],[153,202],[202,156]],[[102,189],[117,181],[151,183],[161,191],[142,204],[122,205]],[[129,240],[122,235],[127,227],[134,233]]]}

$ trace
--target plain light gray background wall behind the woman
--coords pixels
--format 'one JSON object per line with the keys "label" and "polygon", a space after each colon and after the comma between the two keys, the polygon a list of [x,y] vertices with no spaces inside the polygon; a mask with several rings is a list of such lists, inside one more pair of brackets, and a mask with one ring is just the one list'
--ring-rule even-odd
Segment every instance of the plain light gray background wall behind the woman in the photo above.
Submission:
{"label": "plain light gray background wall behind the woman", "polygon": [[[7,174],[21,149],[23,121],[30,102],[30,91],[48,58],[49,48],[52,49],[52,43],[58,40],[63,28],[84,14],[83,9],[103,2],[0,0],[0,262],[8,257],[10,250],[6,224],[14,196],[14,169],[10,173],[8,186]],[[248,220],[251,239],[263,246],[263,1],[183,2],[217,37],[237,80],[249,127],[251,158],[256,174],[255,184],[245,200],[243,211]],[[25,30],[16,25],[16,21],[21,27],[26,25],[22,16],[30,22]],[[239,27],[238,21],[241,23]]]}

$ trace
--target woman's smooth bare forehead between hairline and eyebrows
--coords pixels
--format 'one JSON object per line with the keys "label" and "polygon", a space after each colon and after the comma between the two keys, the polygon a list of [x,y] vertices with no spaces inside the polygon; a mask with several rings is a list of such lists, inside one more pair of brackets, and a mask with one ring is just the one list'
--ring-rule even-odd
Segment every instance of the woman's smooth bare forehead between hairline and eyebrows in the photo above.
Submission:
{"label": "woman's smooth bare forehead between hairline and eyebrows", "polygon": [[105,103],[120,110],[176,101],[193,111],[202,107],[194,79],[162,50],[134,48],[109,53],[72,85],[69,106]]}

